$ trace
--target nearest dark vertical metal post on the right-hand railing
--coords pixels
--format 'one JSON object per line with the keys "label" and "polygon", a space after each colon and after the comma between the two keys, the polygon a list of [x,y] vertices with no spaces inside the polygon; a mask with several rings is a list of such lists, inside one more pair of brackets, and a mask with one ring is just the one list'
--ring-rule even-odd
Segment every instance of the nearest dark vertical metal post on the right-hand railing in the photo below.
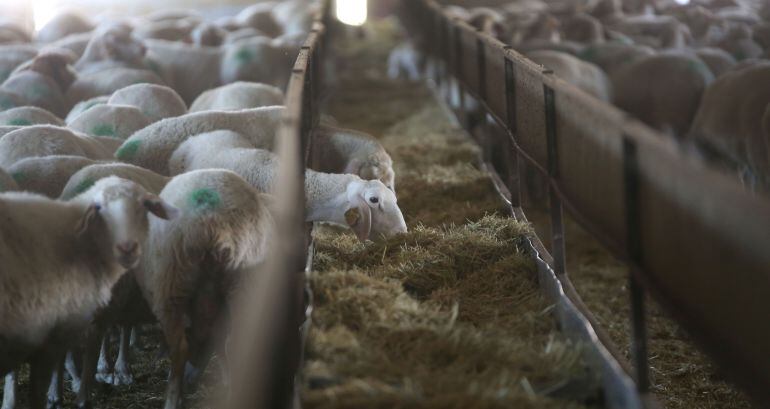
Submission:
{"label": "nearest dark vertical metal post on the right-hand railing", "polygon": [[640,393],[650,389],[647,353],[647,325],[644,287],[633,269],[642,263],[641,220],[639,212],[639,163],[636,145],[623,137],[623,179],[626,205],[626,246],[632,266],[629,269],[631,296],[631,325],[633,330],[632,358],[636,370],[636,385]]}

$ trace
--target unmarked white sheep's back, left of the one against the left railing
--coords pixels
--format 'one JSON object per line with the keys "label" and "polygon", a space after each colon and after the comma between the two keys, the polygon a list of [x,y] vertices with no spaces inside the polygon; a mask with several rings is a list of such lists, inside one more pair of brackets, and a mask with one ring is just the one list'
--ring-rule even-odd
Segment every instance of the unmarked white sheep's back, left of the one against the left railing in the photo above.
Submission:
{"label": "unmarked white sheep's back, left of the one against the left railing", "polygon": [[119,89],[107,103],[135,106],[152,122],[187,113],[187,105],[176,91],[157,84],[135,84]]}

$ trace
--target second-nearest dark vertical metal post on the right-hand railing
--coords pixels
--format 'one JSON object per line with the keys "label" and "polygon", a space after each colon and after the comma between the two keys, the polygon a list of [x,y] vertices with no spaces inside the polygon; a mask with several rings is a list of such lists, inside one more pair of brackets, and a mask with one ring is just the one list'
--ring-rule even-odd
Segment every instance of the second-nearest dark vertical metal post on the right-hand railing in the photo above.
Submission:
{"label": "second-nearest dark vertical metal post on the right-hand railing", "polygon": [[[548,74],[550,72],[545,72]],[[545,99],[545,132],[548,146],[548,192],[551,212],[551,254],[553,255],[554,271],[558,275],[566,274],[566,249],[564,243],[564,212],[561,199],[554,189],[553,183],[559,177],[559,160],[556,139],[556,101],[553,88],[543,84]]]}

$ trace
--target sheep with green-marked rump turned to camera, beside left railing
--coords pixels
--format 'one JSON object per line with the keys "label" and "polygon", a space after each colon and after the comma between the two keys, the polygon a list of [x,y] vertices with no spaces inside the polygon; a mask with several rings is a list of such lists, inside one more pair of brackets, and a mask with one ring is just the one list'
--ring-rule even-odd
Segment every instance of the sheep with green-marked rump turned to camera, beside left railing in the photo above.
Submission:
{"label": "sheep with green-marked rump turned to camera, beside left railing", "polygon": [[168,224],[150,221],[136,277],[169,347],[165,407],[177,408],[186,363],[206,364],[229,293],[242,269],[263,261],[274,222],[266,195],[230,171],[176,176],[160,197],[182,213]]}

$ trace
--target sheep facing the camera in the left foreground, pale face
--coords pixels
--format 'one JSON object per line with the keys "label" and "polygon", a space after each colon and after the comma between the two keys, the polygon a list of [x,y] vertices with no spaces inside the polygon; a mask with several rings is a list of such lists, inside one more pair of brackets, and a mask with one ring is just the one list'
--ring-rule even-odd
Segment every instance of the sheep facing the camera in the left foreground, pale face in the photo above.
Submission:
{"label": "sheep facing the camera in the left foreground, pale face", "polygon": [[56,362],[109,300],[115,282],[139,262],[147,212],[173,219],[176,209],[115,177],[70,202],[0,194],[0,374],[30,362],[32,408],[45,407]]}

